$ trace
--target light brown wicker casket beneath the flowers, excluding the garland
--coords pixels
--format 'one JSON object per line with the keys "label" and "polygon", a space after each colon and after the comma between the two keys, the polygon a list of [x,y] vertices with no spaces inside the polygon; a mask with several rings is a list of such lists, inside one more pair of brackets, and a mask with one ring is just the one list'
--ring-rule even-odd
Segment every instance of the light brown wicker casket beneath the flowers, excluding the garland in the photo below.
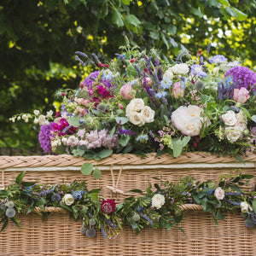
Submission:
{"label": "light brown wicker casket beneath the flowers, excluding the garland", "polygon": [[[80,172],[84,162],[93,162],[102,170],[101,179]],[[178,158],[148,154],[141,159],[134,154],[113,154],[101,161],[84,160],[72,155],[1,156],[2,187],[26,171],[26,181],[40,179],[55,184],[67,178],[84,179],[90,189],[102,187],[105,198],[121,202],[131,189],[146,189],[154,183],[157,172],[164,179],[176,181],[187,175],[199,181],[216,180],[223,173],[241,169],[255,174],[256,155],[248,154],[245,163],[231,157],[215,157],[206,153],[184,153]],[[254,179],[254,177],[253,177]],[[255,179],[252,181],[255,183]],[[213,222],[212,215],[201,207],[184,206],[182,222],[172,230],[145,229],[138,235],[124,228],[114,240],[101,232],[89,238],[80,233],[81,222],[69,218],[65,211],[49,209],[52,214],[43,222],[37,212],[20,215],[20,229],[9,223],[0,233],[1,255],[255,255],[256,229],[248,229],[240,215],[226,213],[224,221]]]}

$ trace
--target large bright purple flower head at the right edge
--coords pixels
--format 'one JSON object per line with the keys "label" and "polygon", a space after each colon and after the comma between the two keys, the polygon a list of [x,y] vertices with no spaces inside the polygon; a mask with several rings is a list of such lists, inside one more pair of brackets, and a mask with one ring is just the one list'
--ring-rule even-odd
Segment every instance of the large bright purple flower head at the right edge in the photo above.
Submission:
{"label": "large bright purple flower head at the right edge", "polygon": [[[244,87],[247,90],[250,90],[250,88],[253,88],[253,85],[256,84],[256,73],[248,67],[231,67],[224,76],[231,76],[233,78],[233,83],[237,84],[236,88],[238,89]],[[256,86],[254,86],[253,90],[256,90]]]}

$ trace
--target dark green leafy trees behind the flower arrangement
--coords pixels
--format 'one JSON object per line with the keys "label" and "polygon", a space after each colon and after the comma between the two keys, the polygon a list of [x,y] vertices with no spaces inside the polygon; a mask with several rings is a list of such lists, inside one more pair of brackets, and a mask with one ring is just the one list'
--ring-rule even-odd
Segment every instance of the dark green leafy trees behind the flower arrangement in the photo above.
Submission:
{"label": "dark green leafy trees behind the flower arrangement", "polygon": [[39,148],[36,128],[9,117],[45,112],[55,90],[76,88],[76,50],[112,58],[127,36],[169,58],[184,49],[196,54],[211,42],[212,55],[240,57],[253,67],[255,10],[249,0],[0,2],[0,148]]}

